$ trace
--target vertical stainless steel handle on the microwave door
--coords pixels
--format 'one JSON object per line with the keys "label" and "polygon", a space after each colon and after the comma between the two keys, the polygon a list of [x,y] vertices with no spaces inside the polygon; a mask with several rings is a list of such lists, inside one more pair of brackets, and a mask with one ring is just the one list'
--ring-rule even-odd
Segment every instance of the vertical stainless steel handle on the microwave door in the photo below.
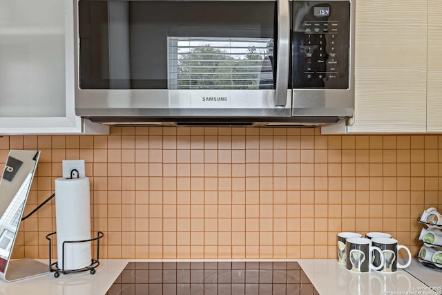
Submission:
{"label": "vertical stainless steel handle on the microwave door", "polygon": [[289,86],[290,58],[290,12],[289,0],[278,0],[278,42],[276,47],[276,85],[275,106],[285,106],[287,103],[287,88]]}

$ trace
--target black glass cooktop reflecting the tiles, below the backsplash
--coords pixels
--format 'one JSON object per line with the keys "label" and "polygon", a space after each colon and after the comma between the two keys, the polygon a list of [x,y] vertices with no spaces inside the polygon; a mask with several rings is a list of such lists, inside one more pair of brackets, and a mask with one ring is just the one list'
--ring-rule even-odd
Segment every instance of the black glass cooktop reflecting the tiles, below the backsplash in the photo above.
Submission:
{"label": "black glass cooktop reflecting the tiles, below the backsplash", "polygon": [[131,262],[106,295],[316,295],[296,262]]}

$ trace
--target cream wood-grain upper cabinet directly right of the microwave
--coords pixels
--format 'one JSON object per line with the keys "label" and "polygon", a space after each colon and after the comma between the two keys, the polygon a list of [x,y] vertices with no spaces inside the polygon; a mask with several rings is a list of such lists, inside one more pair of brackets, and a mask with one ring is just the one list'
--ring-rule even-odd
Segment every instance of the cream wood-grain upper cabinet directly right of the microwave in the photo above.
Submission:
{"label": "cream wood-grain upper cabinet directly right of the microwave", "polygon": [[427,1],[357,0],[355,34],[354,118],[322,132],[425,132]]}

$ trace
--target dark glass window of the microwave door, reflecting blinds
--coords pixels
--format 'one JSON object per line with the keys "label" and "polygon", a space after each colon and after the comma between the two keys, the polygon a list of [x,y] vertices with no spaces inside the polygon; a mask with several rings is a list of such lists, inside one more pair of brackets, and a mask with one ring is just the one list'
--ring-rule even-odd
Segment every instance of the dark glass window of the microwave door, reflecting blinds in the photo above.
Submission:
{"label": "dark glass window of the microwave door, reflecting blinds", "polygon": [[81,89],[274,89],[275,1],[79,0]]}

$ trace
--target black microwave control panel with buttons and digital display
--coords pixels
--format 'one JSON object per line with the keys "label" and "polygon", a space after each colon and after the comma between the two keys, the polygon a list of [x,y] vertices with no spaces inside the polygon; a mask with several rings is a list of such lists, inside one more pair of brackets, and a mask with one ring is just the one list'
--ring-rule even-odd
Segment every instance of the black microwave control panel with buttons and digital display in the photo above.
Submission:
{"label": "black microwave control panel with buttons and digital display", "polygon": [[349,88],[349,1],[294,1],[293,88]]}

